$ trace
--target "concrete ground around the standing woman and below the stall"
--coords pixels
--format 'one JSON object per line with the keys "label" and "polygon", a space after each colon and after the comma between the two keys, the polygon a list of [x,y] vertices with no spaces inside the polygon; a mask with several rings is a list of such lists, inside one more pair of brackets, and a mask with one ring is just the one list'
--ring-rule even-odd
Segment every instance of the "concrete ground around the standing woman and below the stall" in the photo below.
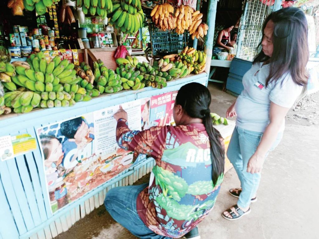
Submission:
{"label": "concrete ground around the standing woman and below the stall", "polygon": [[[211,111],[224,115],[235,97],[222,92],[221,85],[209,83],[212,94]],[[301,102],[309,107],[303,115],[318,118],[319,92]],[[236,204],[228,190],[240,186],[234,169],[227,172],[213,211],[199,224],[202,239],[247,238],[318,238],[317,204],[319,202],[319,126],[292,120],[291,110],[286,120],[282,142],[270,153],[262,171],[257,202],[251,213],[238,221],[225,220],[220,214]],[[298,116],[295,116],[298,118]],[[300,117],[299,117],[300,118]],[[313,120],[311,120],[312,122]],[[143,177],[139,182],[145,182]],[[78,221],[60,239],[126,239],[136,238],[117,224],[104,207],[94,210]]]}

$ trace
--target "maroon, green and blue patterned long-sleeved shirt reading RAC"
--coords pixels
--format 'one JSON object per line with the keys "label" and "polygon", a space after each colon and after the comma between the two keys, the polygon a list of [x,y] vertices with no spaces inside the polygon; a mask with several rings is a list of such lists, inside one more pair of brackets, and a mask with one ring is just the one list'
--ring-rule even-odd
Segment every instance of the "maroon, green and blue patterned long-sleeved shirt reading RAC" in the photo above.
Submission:
{"label": "maroon, green and blue patterned long-sleeved shirt reading RAC", "polygon": [[[212,210],[223,175],[212,182],[210,142],[203,124],[131,131],[117,123],[118,145],[156,161],[150,186],[137,197],[137,212],[159,235],[179,238]],[[154,176],[154,177],[153,177]]]}

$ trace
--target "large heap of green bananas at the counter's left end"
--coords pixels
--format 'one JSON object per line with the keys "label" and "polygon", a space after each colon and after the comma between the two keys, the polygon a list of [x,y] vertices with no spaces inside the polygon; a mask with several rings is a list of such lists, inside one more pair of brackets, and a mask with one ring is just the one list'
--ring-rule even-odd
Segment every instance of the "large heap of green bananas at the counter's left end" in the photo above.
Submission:
{"label": "large heap of green bananas at the counter's left end", "polygon": [[78,101],[88,101],[100,95],[93,89],[93,83],[87,81],[94,81],[91,69],[86,70],[82,79],[77,76],[74,64],[61,60],[59,56],[47,62],[43,52],[39,52],[31,54],[26,62],[15,61],[12,66],[8,63],[6,66],[10,66],[12,75],[3,82],[6,91],[4,105],[15,113],[27,113],[38,107],[73,106]]}

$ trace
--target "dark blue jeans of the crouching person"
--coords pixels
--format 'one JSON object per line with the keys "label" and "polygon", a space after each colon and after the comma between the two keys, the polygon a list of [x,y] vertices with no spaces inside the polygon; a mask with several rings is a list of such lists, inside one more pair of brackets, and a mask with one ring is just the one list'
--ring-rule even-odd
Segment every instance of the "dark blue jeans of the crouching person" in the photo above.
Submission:
{"label": "dark blue jeans of the crouching person", "polygon": [[104,206],[115,221],[133,235],[147,239],[169,239],[150,230],[137,214],[136,199],[148,184],[112,188],[105,197]]}

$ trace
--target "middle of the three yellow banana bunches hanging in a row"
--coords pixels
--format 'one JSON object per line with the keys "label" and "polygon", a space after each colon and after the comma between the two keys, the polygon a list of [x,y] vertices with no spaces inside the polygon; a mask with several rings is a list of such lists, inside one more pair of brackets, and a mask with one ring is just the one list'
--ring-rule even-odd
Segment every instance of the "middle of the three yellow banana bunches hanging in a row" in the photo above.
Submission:
{"label": "middle of the three yellow banana bunches hanging in a row", "polygon": [[183,34],[185,30],[189,29],[193,23],[192,14],[194,14],[194,10],[187,5],[181,5],[176,9],[174,16],[177,18],[175,29],[177,34]]}

